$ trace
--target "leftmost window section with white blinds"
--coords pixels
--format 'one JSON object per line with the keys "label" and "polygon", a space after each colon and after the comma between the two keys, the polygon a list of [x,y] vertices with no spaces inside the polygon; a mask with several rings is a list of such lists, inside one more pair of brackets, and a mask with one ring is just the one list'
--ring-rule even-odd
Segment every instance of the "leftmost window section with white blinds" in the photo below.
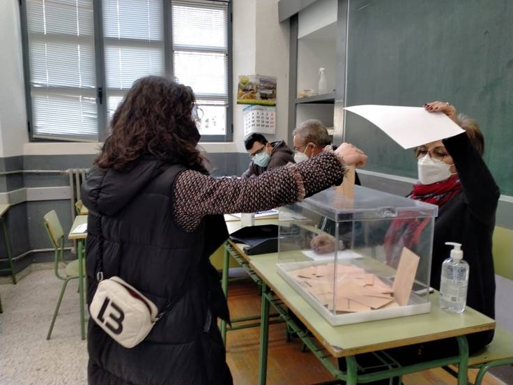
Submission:
{"label": "leftmost window section with white blinds", "polygon": [[26,0],[34,138],[98,139],[93,0]]}

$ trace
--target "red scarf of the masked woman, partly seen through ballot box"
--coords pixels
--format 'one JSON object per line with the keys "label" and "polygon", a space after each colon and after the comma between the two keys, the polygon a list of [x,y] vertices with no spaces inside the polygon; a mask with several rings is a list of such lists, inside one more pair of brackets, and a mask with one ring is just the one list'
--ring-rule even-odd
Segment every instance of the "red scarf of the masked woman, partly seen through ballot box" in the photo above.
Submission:
{"label": "red scarf of the masked woman, partly seen through ballot box", "polygon": [[[420,200],[438,207],[447,203],[454,195],[457,195],[462,189],[461,182],[457,175],[452,175],[445,181],[423,185],[416,183],[413,185],[413,191],[408,194],[408,198]],[[422,230],[429,223],[431,218],[413,218],[397,219],[392,222],[388,229],[383,247],[385,248],[387,261],[392,266],[397,267],[399,255],[404,247],[411,249],[420,240]]]}

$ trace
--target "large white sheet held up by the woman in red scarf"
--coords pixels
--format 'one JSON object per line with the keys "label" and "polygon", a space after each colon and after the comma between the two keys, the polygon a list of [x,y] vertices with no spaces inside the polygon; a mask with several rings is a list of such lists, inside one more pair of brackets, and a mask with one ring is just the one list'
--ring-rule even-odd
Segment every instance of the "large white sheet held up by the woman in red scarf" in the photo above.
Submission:
{"label": "large white sheet held up by the woman in red scarf", "polygon": [[345,110],[374,123],[404,149],[464,133],[443,112],[427,112],[424,107],[354,105]]}

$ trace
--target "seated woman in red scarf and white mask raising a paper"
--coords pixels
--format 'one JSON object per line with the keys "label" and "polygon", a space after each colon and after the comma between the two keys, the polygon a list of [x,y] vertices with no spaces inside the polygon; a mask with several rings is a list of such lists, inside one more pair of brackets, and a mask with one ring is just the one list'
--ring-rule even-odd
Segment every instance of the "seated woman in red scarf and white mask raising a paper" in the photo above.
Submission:
{"label": "seated woman in red scarf and white mask raising a paper", "polygon": [[[450,103],[435,101],[425,104],[424,108],[429,112],[443,112],[465,130],[465,133],[415,149],[419,181],[408,197],[436,204],[439,208],[434,227],[430,285],[440,289],[442,263],[451,250],[445,242],[461,243],[464,259],[470,265],[467,305],[494,318],[496,287],[491,238],[500,192],[482,158],[484,137],[477,121],[457,114]],[[401,236],[400,229],[390,230],[388,236]],[[389,239],[389,243],[395,241]],[[332,251],[334,247],[327,236],[312,240],[312,248],[317,252]],[[467,335],[470,354],[492,339],[493,330]],[[458,346],[455,338],[449,338],[387,352],[399,362],[410,364],[456,355]]]}

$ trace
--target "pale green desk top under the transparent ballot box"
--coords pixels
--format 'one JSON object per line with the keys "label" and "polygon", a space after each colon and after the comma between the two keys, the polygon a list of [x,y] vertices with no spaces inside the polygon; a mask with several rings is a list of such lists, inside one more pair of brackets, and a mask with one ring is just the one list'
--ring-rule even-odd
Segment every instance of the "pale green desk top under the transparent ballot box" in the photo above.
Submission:
{"label": "pale green desk top under the transparent ballot box", "polygon": [[495,327],[493,319],[472,308],[467,307],[461,314],[444,312],[438,305],[438,292],[431,294],[431,312],[427,314],[331,326],[278,275],[276,262],[277,253],[267,254],[251,259],[250,266],[335,357],[466,335]]}

